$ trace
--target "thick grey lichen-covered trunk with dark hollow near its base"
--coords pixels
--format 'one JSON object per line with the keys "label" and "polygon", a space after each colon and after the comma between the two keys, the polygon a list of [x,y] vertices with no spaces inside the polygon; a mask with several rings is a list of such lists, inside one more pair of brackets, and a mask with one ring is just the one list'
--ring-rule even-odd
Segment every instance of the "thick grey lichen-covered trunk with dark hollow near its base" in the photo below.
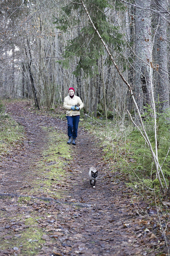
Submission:
{"label": "thick grey lichen-covered trunk with dark hollow near its base", "polygon": [[149,71],[150,54],[152,48],[151,38],[151,0],[136,0],[135,7],[135,63],[134,83],[135,98],[139,111],[143,106],[151,104],[151,77]]}

